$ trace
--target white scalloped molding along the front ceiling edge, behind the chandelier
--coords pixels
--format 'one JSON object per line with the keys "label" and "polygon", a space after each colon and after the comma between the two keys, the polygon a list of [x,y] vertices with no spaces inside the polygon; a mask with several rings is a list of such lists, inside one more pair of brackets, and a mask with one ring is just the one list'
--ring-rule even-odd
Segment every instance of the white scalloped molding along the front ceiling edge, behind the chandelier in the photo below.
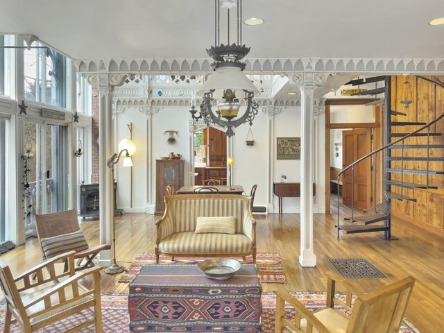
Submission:
{"label": "white scalloped molding along the front ceiling edge, behind the chandelier", "polygon": [[[74,60],[80,73],[108,71],[137,74],[210,74],[210,59],[90,59]],[[257,58],[245,61],[248,73],[284,74],[301,71],[444,74],[444,59],[415,58]]]}

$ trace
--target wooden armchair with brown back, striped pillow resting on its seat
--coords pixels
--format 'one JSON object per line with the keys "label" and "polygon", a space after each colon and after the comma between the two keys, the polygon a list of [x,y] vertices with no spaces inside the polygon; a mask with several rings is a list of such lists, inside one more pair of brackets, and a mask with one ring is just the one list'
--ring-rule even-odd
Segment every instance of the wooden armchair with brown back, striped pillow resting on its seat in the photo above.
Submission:
{"label": "wooden armchair with brown back, striped pillow resting on its seat", "polygon": [[[37,237],[40,242],[40,250],[42,250],[43,260],[49,259],[44,254],[44,249],[42,246],[43,238],[60,236],[62,234],[70,234],[72,232],[80,230],[76,210],[67,210],[65,212],[36,215],[35,227],[37,229]],[[94,263],[92,262],[92,260],[96,257],[96,255],[98,255],[101,250],[109,250],[110,248],[110,245],[104,244],[77,252],[74,255],[74,259],[78,259],[76,271],[80,271],[89,267],[94,267]],[[73,248],[69,248],[66,251],[68,250],[73,250]],[[86,262],[85,264],[82,264],[84,259],[86,260]]]}

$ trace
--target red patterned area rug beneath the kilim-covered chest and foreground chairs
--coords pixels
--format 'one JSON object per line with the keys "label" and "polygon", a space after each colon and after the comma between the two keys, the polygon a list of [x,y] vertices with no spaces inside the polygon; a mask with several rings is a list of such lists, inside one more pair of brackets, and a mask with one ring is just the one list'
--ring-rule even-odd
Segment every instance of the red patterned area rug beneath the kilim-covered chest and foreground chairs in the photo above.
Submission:
{"label": "red patterned area rug beneath the kilim-covered chest and foreground chairs", "polygon": [[[297,291],[291,292],[294,296],[302,302],[305,307],[311,311],[325,306],[325,300],[327,295],[325,292],[310,292],[310,291]],[[128,318],[128,294],[127,293],[102,293],[102,318],[103,318],[103,332],[104,333],[126,333],[130,332],[129,318]],[[273,333],[275,326],[275,307],[276,298],[273,293],[262,293],[262,333]],[[290,308],[286,309],[288,316],[293,316],[294,313]],[[0,302],[0,331],[3,331],[3,323],[5,318],[5,300]],[[88,311],[84,311],[81,314],[74,314],[68,318],[62,319],[58,323],[54,323],[48,327],[44,327],[37,332],[40,333],[58,333],[65,332],[74,325],[85,321],[90,318]],[[12,333],[21,333],[22,328],[17,324],[11,325]],[[94,333],[94,327],[91,325],[83,330],[78,331],[80,333]],[[419,333],[419,331],[413,327],[411,323],[402,321],[400,333]]]}

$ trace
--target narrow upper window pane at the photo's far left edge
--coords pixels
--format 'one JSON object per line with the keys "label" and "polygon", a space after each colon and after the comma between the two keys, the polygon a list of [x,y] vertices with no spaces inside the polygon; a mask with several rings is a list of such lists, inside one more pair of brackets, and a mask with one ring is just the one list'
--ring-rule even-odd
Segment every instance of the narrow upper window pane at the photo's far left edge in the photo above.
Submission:
{"label": "narrow upper window pane at the photo's far left edge", "polygon": [[[14,35],[0,35],[0,46],[14,43]],[[0,47],[0,96],[15,97],[15,49]]]}

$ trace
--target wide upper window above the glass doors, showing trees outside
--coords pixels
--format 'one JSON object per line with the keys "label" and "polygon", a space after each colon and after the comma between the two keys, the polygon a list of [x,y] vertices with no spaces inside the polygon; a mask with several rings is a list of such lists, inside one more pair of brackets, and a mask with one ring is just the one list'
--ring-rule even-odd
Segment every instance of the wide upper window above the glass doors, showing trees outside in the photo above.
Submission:
{"label": "wide upper window above the glass doors, showing trees outside", "polygon": [[[71,61],[42,44],[37,49],[24,49],[25,98],[45,105],[70,108]],[[39,48],[40,47],[40,48]]]}

